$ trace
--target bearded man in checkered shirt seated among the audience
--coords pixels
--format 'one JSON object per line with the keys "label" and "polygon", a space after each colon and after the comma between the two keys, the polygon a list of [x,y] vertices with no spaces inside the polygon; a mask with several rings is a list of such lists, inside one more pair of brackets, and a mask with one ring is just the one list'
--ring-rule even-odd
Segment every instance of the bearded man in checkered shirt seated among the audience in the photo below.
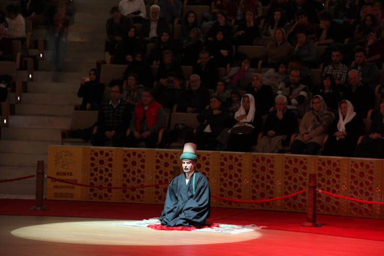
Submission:
{"label": "bearded man in checkered shirt seated among the audience", "polygon": [[343,53],[341,49],[339,48],[333,49],[332,63],[327,67],[325,67],[323,72],[323,75],[331,74],[335,79],[336,86],[339,88],[344,86],[347,80],[347,75],[348,75],[348,67],[342,63],[342,60],[343,60]]}

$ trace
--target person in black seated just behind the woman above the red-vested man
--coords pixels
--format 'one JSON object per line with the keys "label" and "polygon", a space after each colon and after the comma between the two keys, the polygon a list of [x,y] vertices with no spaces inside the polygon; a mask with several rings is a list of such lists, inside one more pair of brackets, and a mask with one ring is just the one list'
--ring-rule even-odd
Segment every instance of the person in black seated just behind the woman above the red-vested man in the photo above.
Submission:
{"label": "person in black seated just behind the woman above the red-vested man", "polygon": [[142,52],[134,53],[134,57],[130,65],[126,67],[123,74],[123,79],[126,81],[128,74],[136,74],[139,77],[139,84],[143,84],[144,87],[153,88],[154,86],[154,75],[150,64],[143,59]]}

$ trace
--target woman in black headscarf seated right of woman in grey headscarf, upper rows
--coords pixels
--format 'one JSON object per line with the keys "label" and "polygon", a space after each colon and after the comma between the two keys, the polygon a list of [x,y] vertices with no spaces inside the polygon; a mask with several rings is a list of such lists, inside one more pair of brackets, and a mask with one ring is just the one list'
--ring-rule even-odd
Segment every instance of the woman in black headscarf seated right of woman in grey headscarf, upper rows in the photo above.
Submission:
{"label": "woman in black headscarf seated right of woman in grey headscarf, upper rows", "polygon": [[217,30],[214,40],[206,41],[206,49],[220,68],[227,67],[232,56],[232,44],[222,29]]}

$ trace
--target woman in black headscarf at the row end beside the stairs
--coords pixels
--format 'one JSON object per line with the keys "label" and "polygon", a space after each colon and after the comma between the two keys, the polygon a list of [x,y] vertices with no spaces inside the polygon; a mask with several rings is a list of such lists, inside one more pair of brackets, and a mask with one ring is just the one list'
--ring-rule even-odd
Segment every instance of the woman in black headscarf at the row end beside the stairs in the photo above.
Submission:
{"label": "woman in black headscarf at the row end beside the stairs", "polygon": [[97,69],[91,69],[89,77],[81,79],[77,97],[82,98],[80,110],[99,110],[104,97],[105,84],[100,83]]}

